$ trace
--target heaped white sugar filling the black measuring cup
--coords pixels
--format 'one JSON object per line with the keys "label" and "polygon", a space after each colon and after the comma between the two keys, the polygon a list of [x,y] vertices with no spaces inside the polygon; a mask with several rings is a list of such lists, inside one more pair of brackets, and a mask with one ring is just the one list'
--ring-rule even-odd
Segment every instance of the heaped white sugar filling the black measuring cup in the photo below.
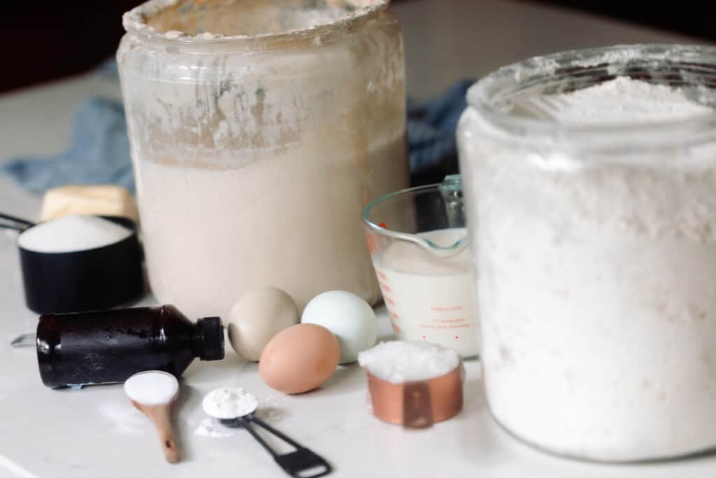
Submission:
{"label": "heaped white sugar filling the black measuring cup", "polygon": [[33,252],[78,252],[109,246],[132,235],[127,229],[97,216],[62,216],[37,224],[18,236],[17,244]]}

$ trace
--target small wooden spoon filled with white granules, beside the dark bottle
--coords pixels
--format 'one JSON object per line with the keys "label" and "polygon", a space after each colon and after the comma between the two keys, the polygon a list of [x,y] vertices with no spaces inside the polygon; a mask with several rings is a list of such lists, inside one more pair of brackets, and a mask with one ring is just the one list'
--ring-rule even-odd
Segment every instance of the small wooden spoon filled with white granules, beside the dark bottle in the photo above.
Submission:
{"label": "small wooden spoon filled with white granules, beside the dark bottle", "polygon": [[171,423],[171,408],[178,392],[179,382],[171,373],[140,372],[125,381],[125,393],[132,405],[153,421],[164,456],[170,463],[179,461]]}

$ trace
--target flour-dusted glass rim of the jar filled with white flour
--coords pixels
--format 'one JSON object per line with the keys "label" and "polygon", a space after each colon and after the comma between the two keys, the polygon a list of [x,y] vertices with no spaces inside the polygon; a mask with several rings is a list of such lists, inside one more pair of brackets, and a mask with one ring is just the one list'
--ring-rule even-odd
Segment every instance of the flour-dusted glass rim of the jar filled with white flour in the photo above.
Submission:
{"label": "flour-dusted glass rim of the jar filled with white flour", "polygon": [[[513,115],[500,110],[495,104],[498,95],[503,95],[500,99],[505,99],[505,96],[515,95],[524,87],[540,82],[558,82],[599,72],[612,79],[620,75],[629,76],[628,72],[616,73],[619,68],[627,67],[638,68],[642,74],[648,75],[649,71],[656,72],[658,67],[679,66],[700,69],[703,75],[712,75],[710,86],[716,85],[716,47],[623,44],[558,52],[500,67],[470,87],[468,109],[474,110],[485,121],[491,137],[529,145],[569,145],[580,150],[601,150],[609,145],[629,148],[638,141],[643,143],[647,137],[654,139],[655,148],[716,140],[716,110],[697,118],[654,123],[565,125]],[[643,144],[641,146],[643,150]]]}

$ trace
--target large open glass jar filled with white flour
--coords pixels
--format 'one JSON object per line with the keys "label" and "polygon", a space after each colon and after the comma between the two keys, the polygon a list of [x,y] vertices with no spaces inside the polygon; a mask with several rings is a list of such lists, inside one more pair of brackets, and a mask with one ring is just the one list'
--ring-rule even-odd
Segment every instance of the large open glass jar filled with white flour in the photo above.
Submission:
{"label": "large open glass jar filled with white flour", "polygon": [[468,93],[483,377],[521,439],[616,462],[716,446],[715,88],[714,48],[624,46]]}

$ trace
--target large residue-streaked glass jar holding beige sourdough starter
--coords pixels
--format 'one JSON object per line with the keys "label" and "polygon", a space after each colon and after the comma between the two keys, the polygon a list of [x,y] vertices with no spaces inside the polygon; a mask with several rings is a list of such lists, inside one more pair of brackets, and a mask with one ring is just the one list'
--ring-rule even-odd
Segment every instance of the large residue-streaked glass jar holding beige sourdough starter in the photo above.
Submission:
{"label": "large residue-streaked glass jar holding beige sourdough starter", "polygon": [[268,285],[379,297],[360,212],[407,186],[387,0],[153,0],[117,52],[153,292],[223,315]]}

